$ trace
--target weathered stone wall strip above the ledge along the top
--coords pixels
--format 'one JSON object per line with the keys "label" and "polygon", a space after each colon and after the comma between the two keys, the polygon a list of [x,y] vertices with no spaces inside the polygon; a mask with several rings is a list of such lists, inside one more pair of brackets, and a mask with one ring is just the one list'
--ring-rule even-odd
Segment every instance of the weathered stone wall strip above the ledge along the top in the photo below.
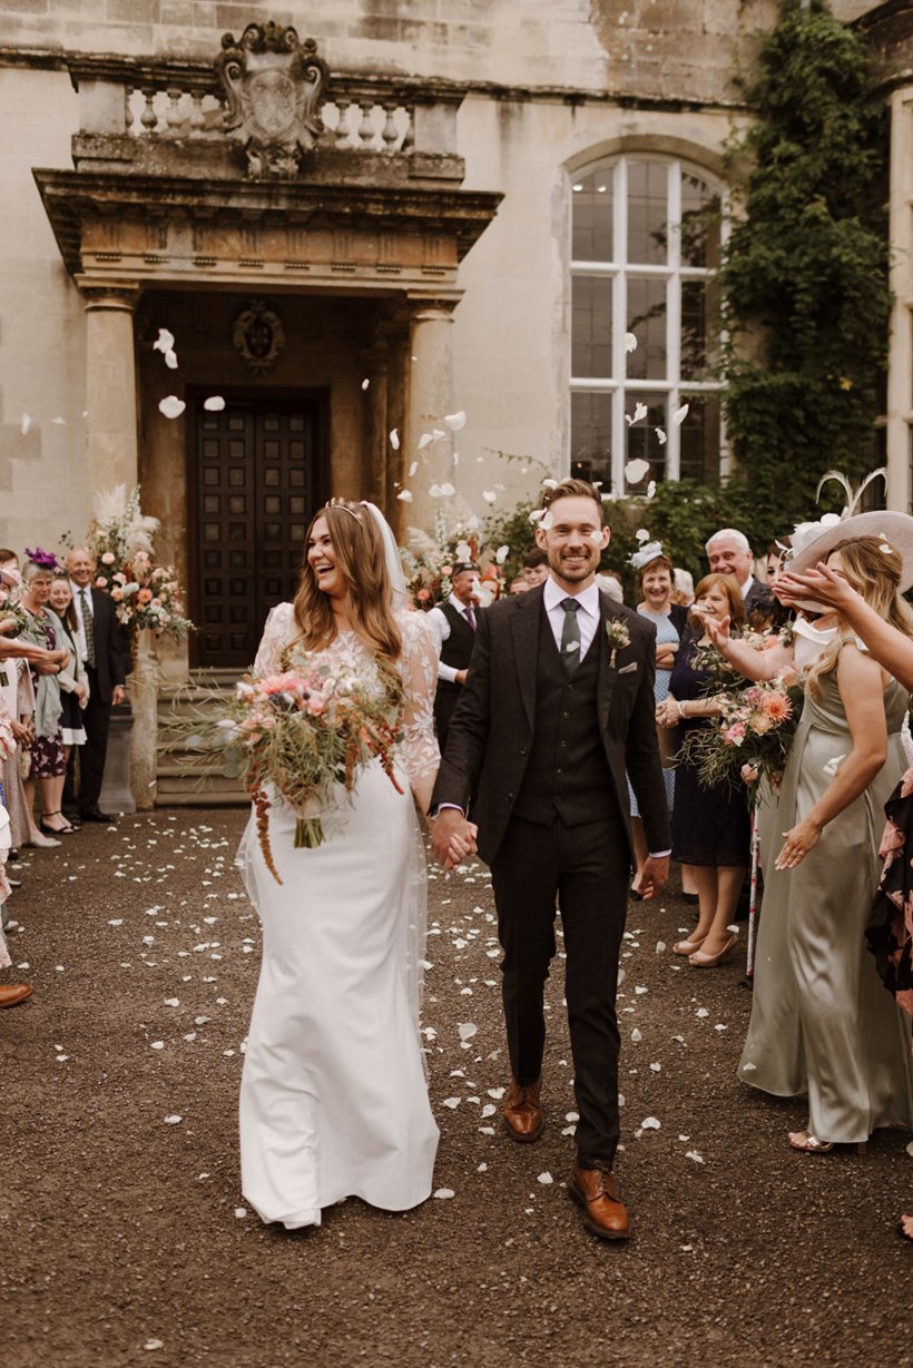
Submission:
{"label": "weathered stone wall strip above the ledge along the top", "polygon": [[222,33],[275,19],[342,70],[717,101],[775,14],[776,0],[3,0],[0,31],[14,48],[208,56]]}

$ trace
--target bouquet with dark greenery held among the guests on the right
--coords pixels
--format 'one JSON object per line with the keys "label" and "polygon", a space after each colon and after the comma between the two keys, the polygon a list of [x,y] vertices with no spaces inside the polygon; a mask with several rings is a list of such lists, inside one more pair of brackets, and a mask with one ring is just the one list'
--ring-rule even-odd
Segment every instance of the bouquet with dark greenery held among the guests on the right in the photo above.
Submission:
{"label": "bouquet with dark greenery held among the guests on the right", "polygon": [[[782,637],[776,632],[746,632],[754,650],[764,651]],[[753,803],[761,780],[779,784],[802,711],[802,688],[787,666],[772,680],[746,683],[713,646],[698,647],[698,669],[709,669],[705,695],[715,698],[723,714],[709,726],[694,728],[682,746],[682,757],[697,767],[706,788],[728,782],[745,785]]]}

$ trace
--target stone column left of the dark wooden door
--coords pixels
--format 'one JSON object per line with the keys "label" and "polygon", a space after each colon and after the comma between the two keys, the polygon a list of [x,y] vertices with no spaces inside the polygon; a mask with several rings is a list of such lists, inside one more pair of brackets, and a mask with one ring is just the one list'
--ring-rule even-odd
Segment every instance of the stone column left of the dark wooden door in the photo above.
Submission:
{"label": "stone column left of the dark wooden door", "polygon": [[137,483],[133,311],[138,291],[89,287],[86,311],[86,475],[93,491]]}

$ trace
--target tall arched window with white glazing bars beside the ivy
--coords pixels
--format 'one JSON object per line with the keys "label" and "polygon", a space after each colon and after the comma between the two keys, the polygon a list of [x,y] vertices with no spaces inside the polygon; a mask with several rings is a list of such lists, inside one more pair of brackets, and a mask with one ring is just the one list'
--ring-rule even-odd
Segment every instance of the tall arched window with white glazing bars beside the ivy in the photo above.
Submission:
{"label": "tall arched window with white glazing bars beside the ivy", "polygon": [[[720,476],[721,193],[706,172],[646,155],[572,178],[571,473],[616,494]],[[631,480],[636,458],[649,471]]]}

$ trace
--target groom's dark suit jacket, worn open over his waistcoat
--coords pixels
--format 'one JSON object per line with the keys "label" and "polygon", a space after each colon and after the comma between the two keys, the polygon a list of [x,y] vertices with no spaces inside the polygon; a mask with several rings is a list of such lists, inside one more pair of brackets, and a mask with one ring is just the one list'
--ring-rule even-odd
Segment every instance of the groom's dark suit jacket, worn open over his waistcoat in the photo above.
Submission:
{"label": "groom's dark suit jacket, worn open over his waistcoat", "polygon": [[[472,810],[479,854],[490,865],[504,840],[527,770],[537,707],[539,651],[550,632],[542,586],[501,599],[479,616],[470,676],[450,720],[433,810],[456,803]],[[598,651],[597,714],[619,811],[628,814],[626,772],[636,795],[647,848],[672,844],[656,736],[656,629],[639,614],[600,594],[601,621],[590,650]],[[606,624],[627,627],[630,644],[616,648]],[[627,837],[627,828],[626,828]]]}

